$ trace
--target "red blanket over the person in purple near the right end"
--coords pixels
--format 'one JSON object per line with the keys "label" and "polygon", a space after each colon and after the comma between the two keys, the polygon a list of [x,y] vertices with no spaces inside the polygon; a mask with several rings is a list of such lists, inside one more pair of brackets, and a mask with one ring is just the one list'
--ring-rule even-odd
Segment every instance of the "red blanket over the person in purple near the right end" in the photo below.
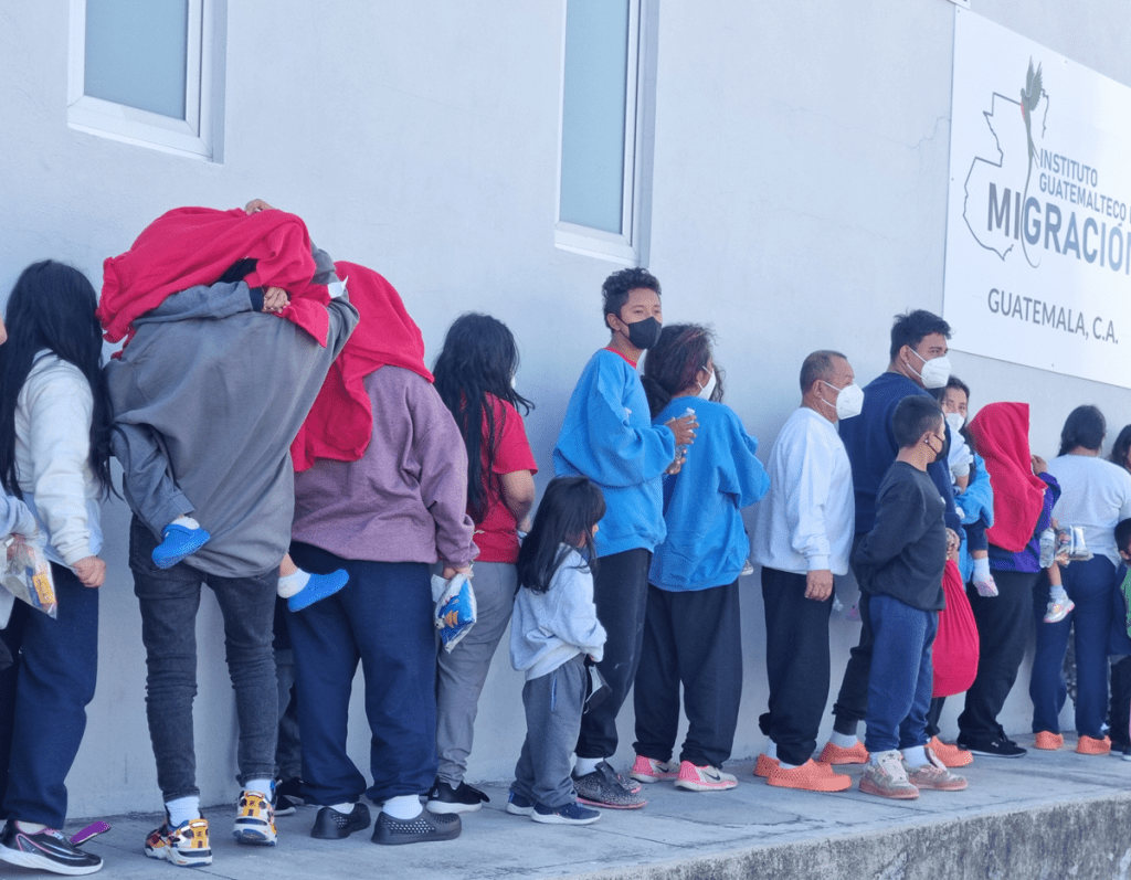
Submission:
{"label": "red blanket over the person in purple near the right end", "polygon": [[1029,405],[986,404],[970,420],[970,433],[993,486],[994,521],[986,537],[994,546],[1017,553],[1033,540],[1047,489],[1033,473]]}

